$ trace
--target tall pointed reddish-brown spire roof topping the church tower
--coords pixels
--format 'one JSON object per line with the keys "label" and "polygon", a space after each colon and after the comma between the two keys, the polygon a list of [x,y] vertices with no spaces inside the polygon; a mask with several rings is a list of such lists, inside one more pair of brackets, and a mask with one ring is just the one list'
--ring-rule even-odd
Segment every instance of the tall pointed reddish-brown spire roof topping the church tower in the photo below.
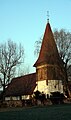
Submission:
{"label": "tall pointed reddish-brown spire roof topping the church tower", "polygon": [[42,64],[59,64],[61,59],[58,54],[57,46],[49,23],[46,25],[45,33],[42,40],[39,57],[34,64],[35,67]]}

